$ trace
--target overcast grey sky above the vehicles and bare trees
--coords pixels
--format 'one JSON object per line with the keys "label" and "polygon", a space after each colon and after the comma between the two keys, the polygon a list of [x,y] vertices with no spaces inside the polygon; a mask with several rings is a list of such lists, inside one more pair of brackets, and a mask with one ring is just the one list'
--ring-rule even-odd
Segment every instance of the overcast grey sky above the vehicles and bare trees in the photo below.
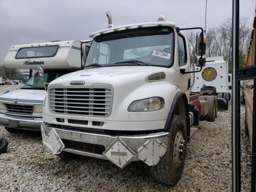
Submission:
{"label": "overcast grey sky above the vehicles and bare trees", "polygon": [[[253,22],[256,0],[240,0],[240,16]],[[0,0],[0,64],[11,45],[88,40],[113,25],[154,22],[164,15],[180,28],[203,27],[206,0]],[[207,28],[232,17],[232,0],[207,0]]]}

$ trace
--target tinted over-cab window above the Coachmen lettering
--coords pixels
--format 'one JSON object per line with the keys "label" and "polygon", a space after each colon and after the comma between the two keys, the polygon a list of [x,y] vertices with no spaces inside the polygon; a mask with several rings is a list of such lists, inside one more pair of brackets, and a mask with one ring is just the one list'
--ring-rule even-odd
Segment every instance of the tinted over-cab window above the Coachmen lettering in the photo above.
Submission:
{"label": "tinted over-cab window above the Coachmen lettering", "polygon": [[22,59],[22,58],[53,57],[56,55],[58,48],[59,48],[58,45],[20,48],[15,58]]}

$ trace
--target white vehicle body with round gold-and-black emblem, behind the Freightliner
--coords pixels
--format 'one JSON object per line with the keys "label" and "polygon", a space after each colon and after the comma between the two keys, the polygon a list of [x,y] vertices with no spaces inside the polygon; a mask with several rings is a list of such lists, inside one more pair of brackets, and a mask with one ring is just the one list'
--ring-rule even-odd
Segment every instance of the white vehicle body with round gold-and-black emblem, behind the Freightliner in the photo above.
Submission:
{"label": "white vehicle body with round gold-and-black emblem, behind the Freightliner", "polygon": [[[198,70],[198,67],[194,67]],[[210,91],[210,94],[218,96],[218,108],[228,110],[228,62],[224,61],[222,56],[206,58],[202,72],[195,73],[194,76],[191,93],[205,92],[205,95],[209,95]]]}

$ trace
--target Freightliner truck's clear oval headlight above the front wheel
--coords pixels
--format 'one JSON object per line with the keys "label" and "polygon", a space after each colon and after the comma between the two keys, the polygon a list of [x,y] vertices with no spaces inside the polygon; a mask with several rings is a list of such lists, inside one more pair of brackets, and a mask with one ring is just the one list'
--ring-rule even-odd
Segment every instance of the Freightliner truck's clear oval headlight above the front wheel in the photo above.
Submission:
{"label": "Freightliner truck's clear oval headlight above the front wheel", "polygon": [[128,107],[129,112],[157,111],[164,108],[164,99],[152,97],[134,101]]}

